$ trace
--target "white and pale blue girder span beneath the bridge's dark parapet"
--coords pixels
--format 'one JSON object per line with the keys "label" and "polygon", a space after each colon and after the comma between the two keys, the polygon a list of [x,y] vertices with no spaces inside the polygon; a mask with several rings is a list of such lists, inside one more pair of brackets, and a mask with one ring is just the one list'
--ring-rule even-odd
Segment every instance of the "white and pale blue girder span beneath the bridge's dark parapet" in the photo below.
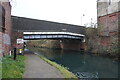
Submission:
{"label": "white and pale blue girder span beneath the bridge's dark parapet", "polygon": [[23,32],[25,40],[35,39],[78,39],[83,40],[84,35],[70,32]]}

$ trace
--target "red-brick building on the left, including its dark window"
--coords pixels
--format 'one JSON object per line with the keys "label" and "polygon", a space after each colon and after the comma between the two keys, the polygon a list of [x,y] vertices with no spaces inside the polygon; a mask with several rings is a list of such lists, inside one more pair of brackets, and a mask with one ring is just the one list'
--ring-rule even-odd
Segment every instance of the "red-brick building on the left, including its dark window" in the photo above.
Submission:
{"label": "red-brick building on the left, including its dark window", "polygon": [[11,50],[11,5],[9,0],[0,1],[0,56]]}

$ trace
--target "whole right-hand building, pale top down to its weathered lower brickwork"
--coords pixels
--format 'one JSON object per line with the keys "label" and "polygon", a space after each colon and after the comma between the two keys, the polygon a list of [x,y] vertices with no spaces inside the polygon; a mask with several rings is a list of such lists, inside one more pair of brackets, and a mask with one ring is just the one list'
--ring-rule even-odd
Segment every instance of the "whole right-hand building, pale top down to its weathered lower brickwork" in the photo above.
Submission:
{"label": "whole right-hand building, pale top down to its weathered lower brickwork", "polygon": [[120,26],[120,0],[98,0],[97,19],[100,46],[109,53],[116,53]]}

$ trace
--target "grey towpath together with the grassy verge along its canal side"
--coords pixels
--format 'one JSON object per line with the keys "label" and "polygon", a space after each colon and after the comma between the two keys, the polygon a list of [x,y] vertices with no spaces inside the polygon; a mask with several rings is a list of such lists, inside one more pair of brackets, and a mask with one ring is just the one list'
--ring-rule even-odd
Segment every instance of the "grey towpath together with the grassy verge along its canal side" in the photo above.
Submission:
{"label": "grey towpath together with the grassy verge along its canal side", "polygon": [[[62,78],[63,80],[64,78],[77,78],[75,77],[75,75],[73,75],[71,72],[67,71],[67,69],[64,68],[64,70],[66,70],[64,71],[66,72],[64,73],[66,74],[65,76],[62,72],[63,67],[61,67],[61,69],[58,68],[58,66],[60,65],[57,65],[56,63],[42,56],[39,57],[30,52],[26,52],[25,56],[27,57],[26,71],[24,73],[23,78]],[[65,79],[65,80],[68,80],[68,79]]]}

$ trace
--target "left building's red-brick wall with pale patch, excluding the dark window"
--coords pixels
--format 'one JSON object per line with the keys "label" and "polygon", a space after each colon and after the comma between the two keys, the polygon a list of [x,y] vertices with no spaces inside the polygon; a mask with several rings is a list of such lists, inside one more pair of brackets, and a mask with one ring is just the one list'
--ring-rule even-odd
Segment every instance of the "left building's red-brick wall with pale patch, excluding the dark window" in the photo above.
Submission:
{"label": "left building's red-brick wall with pale patch, excluding the dark window", "polygon": [[8,54],[11,50],[11,6],[7,0],[6,2],[0,2],[0,4],[5,10],[5,21],[2,21],[5,31],[1,31],[2,37],[0,38],[2,40],[2,52],[3,54]]}

